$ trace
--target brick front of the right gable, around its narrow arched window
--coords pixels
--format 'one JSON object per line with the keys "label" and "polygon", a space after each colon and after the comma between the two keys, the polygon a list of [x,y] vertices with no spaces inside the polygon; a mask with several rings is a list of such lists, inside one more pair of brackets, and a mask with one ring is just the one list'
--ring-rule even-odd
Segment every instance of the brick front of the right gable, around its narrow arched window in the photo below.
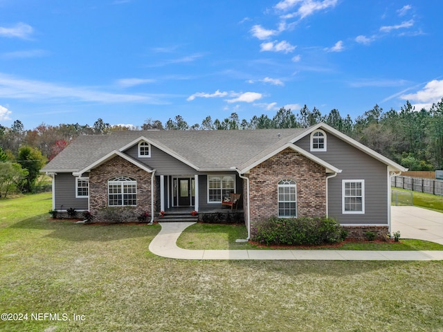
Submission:
{"label": "brick front of the right gable, around its narrow arched window", "polygon": [[257,222],[278,215],[278,182],[297,183],[297,216],[326,215],[325,167],[285,149],[257,165],[248,174],[251,228]]}

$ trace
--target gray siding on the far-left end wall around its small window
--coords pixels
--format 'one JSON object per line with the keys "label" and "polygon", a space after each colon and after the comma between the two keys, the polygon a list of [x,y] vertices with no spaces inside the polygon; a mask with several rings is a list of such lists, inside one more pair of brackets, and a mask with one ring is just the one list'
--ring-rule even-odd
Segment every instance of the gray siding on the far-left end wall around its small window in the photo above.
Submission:
{"label": "gray siding on the far-left end wall around its small window", "polygon": [[[86,174],[85,174],[86,175]],[[88,199],[75,198],[75,176],[71,173],[55,175],[55,210],[88,210]]]}

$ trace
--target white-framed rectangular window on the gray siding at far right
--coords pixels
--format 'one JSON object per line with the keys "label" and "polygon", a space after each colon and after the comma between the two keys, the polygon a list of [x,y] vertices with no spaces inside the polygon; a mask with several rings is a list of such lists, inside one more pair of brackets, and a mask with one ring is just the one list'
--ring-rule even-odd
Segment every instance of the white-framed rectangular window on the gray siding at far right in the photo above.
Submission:
{"label": "white-framed rectangular window on the gray siding at far right", "polygon": [[365,213],[365,181],[343,180],[343,213]]}

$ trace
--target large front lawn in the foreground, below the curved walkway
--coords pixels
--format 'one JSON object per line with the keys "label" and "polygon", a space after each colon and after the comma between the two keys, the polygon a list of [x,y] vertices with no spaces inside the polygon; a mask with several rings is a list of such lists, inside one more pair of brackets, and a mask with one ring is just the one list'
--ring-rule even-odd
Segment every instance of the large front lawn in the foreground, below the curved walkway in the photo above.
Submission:
{"label": "large front lawn in the foreground, below the curved walkway", "polygon": [[165,259],[159,225],[50,221],[50,197],[0,200],[0,313],[70,320],[0,331],[443,329],[442,261]]}

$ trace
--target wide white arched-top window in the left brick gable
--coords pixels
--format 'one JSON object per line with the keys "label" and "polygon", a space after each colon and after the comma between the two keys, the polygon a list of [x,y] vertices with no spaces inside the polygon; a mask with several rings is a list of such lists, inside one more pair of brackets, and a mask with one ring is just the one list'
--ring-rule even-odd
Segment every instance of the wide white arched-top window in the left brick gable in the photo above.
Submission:
{"label": "wide white arched-top window in the left brick gable", "polygon": [[108,205],[137,205],[137,181],[128,176],[116,176],[108,181]]}

